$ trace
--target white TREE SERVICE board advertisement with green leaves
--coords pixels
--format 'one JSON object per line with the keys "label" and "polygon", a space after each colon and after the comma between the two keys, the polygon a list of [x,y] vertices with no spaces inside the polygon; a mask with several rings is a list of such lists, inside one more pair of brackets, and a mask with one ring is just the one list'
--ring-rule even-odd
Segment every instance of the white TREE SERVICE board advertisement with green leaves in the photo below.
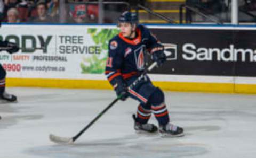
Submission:
{"label": "white TREE SERVICE board advertisement with green leaves", "polygon": [[108,41],[114,26],[3,25],[0,40],[17,43],[16,54],[0,54],[12,78],[104,80]]}

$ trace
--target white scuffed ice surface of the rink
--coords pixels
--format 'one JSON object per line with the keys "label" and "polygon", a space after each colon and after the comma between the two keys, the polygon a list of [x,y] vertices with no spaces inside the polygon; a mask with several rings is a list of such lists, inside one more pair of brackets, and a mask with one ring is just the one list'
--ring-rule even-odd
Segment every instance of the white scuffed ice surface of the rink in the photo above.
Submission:
{"label": "white scuffed ice surface of the rink", "polygon": [[[117,102],[72,145],[72,137],[115,99],[109,90],[8,88],[18,103],[0,103],[0,157],[255,157],[256,95],[165,92],[173,124],[185,136],[136,134],[137,101]],[[150,122],[156,123],[154,117]]]}

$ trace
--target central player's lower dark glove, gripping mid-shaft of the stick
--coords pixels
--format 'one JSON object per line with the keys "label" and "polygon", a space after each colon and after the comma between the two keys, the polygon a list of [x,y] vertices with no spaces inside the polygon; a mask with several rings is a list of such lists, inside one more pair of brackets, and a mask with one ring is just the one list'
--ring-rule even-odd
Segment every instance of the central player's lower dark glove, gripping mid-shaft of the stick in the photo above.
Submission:
{"label": "central player's lower dark glove, gripping mid-shaft of the stick", "polygon": [[121,97],[120,99],[122,101],[125,101],[128,98],[129,96],[128,88],[123,81],[116,80],[116,84],[114,85],[114,88],[115,88],[117,97]]}

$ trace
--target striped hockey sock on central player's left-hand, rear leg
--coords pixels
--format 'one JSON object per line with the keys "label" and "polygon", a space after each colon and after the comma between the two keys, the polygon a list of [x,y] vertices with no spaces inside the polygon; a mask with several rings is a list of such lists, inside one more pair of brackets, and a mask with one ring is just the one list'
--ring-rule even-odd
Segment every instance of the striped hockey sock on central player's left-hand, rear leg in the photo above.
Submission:
{"label": "striped hockey sock on central player's left-hand, rear leg", "polygon": [[141,124],[147,124],[149,118],[151,116],[150,107],[142,106],[139,104],[137,108],[137,121]]}

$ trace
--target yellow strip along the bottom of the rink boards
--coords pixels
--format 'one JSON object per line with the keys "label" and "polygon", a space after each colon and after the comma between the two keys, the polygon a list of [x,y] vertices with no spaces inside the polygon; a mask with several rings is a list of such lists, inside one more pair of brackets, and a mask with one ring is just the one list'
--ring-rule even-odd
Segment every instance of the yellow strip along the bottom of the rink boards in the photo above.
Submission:
{"label": "yellow strip along the bottom of the rink boards", "polygon": [[[165,91],[247,93],[256,94],[256,84],[153,82]],[[6,78],[6,86],[12,87],[55,87],[65,89],[113,89],[106,80],[64,80],[41,78]]]}

